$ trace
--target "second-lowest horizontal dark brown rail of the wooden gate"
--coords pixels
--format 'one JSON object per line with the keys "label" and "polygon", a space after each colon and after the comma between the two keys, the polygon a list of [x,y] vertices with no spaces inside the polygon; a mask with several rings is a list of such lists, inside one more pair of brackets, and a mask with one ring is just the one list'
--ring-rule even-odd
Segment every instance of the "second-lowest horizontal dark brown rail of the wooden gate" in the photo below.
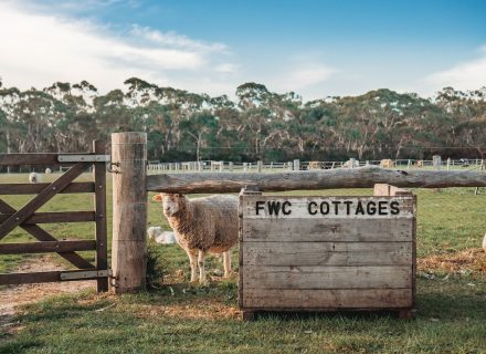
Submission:
{"label": "second-lowest horizontal dark brown rail of the wooden gate", "polygon": [[44,241],[30,243],[0,243],[0,254],[91,251],[94,240]]}

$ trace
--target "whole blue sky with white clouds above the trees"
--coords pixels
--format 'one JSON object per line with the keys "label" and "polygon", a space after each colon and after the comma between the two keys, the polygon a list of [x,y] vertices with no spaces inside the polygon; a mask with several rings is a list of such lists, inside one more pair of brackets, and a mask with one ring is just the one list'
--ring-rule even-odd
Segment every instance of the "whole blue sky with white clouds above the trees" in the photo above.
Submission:
{"label": "whole blue sky with white clouds above the trees", "polygon": [[486,86],[484,0],[0,0],[0,77],[304,100]]}

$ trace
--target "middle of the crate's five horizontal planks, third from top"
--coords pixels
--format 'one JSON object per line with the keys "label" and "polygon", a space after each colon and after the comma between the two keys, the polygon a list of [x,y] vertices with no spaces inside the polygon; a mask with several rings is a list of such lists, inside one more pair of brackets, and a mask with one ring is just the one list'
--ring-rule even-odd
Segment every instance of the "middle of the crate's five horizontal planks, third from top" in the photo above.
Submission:
{"label": "middle of the crate's five horizontal planks, third from top", "polygon": [[242,242],[244,266],[408,266],[412,242]]}

